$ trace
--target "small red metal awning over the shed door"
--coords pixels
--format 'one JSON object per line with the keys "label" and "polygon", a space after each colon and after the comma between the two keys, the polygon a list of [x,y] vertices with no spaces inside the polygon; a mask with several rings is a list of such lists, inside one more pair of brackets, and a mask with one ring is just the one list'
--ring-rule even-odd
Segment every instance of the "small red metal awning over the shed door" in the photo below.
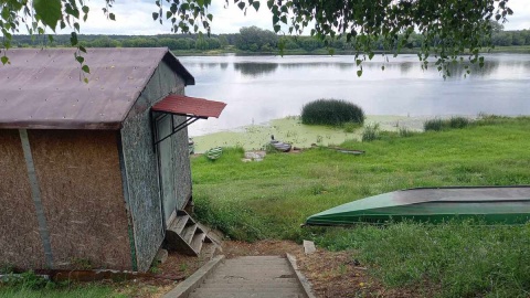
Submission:
{"label": "small red metal awning over the shed door", "polygon": [[165,111],[198,118],[219,118],[225,103],[171,94],[152,106],[155,111]]}

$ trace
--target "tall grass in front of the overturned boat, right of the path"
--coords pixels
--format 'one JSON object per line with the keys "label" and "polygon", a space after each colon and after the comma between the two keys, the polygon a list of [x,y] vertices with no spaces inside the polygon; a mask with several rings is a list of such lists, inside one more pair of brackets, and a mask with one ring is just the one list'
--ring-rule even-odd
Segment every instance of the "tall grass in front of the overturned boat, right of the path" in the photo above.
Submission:
{"label": "tall grass in front of the overturned boat, right of the path", "polygon": [[356,249],[389,287],[438,285],[441,297],[528,297],[530,224],[396,223],[332,230],[317,245]]}

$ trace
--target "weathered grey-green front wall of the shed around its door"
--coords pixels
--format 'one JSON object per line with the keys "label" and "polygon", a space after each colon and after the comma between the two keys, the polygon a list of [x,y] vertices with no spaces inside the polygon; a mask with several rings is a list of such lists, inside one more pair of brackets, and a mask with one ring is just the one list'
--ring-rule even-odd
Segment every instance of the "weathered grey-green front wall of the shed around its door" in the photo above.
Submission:
{"label": "weathered grey-green front wall of the shed around its door", "polygon": [[[135,251],[137,268],[147,270],[160,247],[165,227],[162,222],[162,206],[158,181],[158,160],[152,143],[152,131],[149,108],[170,93],[183,94],[184,83],[171,68],[161,62],[140,97],[131,108],[124,121],[121,129],[123,159],[126,168],[128,189],[128,206],[132,216]],[[177,140],[178,138],[186,138]],[[187,131],[172,137],[177,143],[188,143]],[[180,145],[179,145],[180,146]],[[188,160],[180,151],[176,150],[176,160]],[[189,171],[183,173],[189,175]],[[189,185],[180,183],[186,191],[191,193],[191,179]]]}

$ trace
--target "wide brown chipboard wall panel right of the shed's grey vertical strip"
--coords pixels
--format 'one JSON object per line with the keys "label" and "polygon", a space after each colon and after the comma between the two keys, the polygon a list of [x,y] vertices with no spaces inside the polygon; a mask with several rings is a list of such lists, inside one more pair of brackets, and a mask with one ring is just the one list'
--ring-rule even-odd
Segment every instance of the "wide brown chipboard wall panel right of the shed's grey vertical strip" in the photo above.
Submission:
{"label": "wide brown chipboard wall panel right of the shed's grey vertical strip", "polygon": [[117,132],[28,132],[54,268],[131,269]]}

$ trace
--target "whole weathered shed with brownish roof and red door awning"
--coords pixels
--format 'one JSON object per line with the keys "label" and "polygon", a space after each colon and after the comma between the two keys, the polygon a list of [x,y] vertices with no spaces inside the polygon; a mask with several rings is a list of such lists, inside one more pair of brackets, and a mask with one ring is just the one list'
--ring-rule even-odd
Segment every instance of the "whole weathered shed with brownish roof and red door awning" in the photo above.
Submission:
{"label": "whole weathered shed with brownish roof and red door awning", "polygon": [[191,200],[187,126],[225,104],[167,49],[89,49],[88,83],[74,53],[0,66],[0,265],[145,272]]}

